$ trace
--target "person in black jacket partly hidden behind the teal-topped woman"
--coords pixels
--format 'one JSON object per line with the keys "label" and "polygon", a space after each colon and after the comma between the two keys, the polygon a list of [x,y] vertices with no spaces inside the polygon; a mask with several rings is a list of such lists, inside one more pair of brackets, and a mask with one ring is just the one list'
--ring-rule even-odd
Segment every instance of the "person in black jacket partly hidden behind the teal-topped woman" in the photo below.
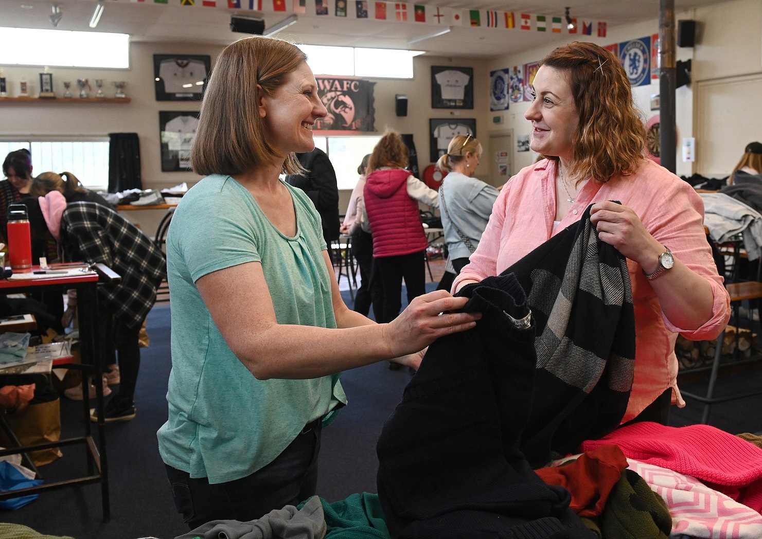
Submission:
{"label": "person in black jacket partly hidden behind the teal-topped woman", "polygon": [[305,170],[305,174],[290,174],[286,177],[287,183],[293,187],[299,187],[309,196],[315,209],[318,210],[323,226],[323,239],[328,244],[328,256],[333,262],[331,241],[338,240],[339,226],[338,217],[338,184],[336,172],[328,159],[328,155],[320,148],[315,148],[306,153],[296,154]]}

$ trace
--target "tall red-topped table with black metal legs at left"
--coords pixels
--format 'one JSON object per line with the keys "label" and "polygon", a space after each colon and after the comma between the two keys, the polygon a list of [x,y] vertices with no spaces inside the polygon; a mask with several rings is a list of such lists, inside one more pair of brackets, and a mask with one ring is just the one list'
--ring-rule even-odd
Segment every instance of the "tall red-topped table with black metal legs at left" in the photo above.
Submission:
{"label": "tall red-topped table with black metal legs at left", "polygon": [[[79,264],[84,266],[84,264]],[[72,264],[60,264],[51,266],[62,269],[72,267]],[[30,273],[39,270],[39,266],[33,266],[26,270]],[[43,292],[56,291],[62,293],[67,289],[77,291],[79,343],[82,364],[60,365],[63,368],[76,368],[82,371],[82,403],[83,420],[85,422],[85,435],[71,439],[62,439],[58,442],[45,444],[27,445],[16,448],[8,448],[0,451],[0,456],[8,454],[20,454],[37,449],[64,447],[66,445],[86,445],[87,475],[70,480],[43,483],[21,490],[12,490],[0,493],[0,499],[16,498],[29,493],[37,493],[45,490],[56,490],[66,486],[80,486],[82,484],[101,484],[101,501],[103,504],[103,521],[110,520],[110,505],[108,495],[108,466],[106,457],[106,438],[103,417],[103,386],[98,381],[103,375],[101,355],[98,353],[103,336],[98,331],[98,295],[99,282],[119,282],[121,277],[114,273],[104,264],[95,264],[93,269],[96,273],[83,273],[75,276],[44,276],[39,279],[0,279],[0,294],[14,294],[19,292]],[[24,270],[21,270],[22,272]],[[95,445],[90,422],[90,392],[88,391],[88,375],[93,375],[95,380],[95,409],[98,410],[98,445]]]}

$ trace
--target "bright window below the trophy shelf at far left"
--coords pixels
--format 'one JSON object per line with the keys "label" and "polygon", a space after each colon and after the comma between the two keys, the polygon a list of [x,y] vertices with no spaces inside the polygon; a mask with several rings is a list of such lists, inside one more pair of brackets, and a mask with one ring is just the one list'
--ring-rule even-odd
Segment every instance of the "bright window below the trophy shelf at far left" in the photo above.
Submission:
{"label": "bright window below the trophy shelf at far left", "polygon": [[94,191],[108,188],[108,137],[0,139],[0,158],[26,148],[32,154],[32,174],[71,172]]}

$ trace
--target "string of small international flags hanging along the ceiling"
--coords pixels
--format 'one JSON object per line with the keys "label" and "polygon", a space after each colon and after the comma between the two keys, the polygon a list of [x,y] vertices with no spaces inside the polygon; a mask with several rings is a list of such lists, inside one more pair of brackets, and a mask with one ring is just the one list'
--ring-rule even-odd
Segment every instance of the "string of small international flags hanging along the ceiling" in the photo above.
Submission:
{"label": "string of small international flags hanging along the ceiling", "polygon": [[491,11],[484,9],[440,8],[434,5],[408,4],[405,2],[374,2],[373,0],[130,0],[165,5],[202,5],[207,8],[227,7],[250,11],[280,11],[315,16],[334,16],[372,21],[410,22],[440,24],[442,26],[471,26],[512,28],[549,33],[579,33],[585,36],[606,37],[605,21],[581,21],[572,18],[573,27],[568,28],[560,15],[536,15],[514,11]]}

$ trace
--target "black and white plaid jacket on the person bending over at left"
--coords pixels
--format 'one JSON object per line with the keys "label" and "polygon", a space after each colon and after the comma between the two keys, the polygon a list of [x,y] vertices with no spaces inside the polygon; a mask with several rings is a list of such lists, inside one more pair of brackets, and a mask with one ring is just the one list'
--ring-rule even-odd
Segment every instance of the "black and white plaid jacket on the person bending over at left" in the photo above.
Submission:
{"label": "black and white plaid jacket on the person bending over at left", "polygon": [[100,262],[119,273],[120,283],[98,287],[101,301],[129,327],[140,327],[167,274],[162,250],[117,212],[88,202],[66,206],[61,241],[66,260]]}

